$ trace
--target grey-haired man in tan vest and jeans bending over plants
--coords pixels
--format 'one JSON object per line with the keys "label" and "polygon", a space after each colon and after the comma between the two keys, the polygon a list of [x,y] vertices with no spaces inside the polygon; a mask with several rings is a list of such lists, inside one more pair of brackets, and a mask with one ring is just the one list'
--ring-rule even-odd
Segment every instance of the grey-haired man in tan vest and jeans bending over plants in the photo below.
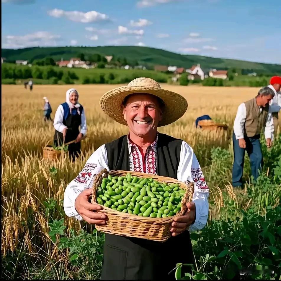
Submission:
{"label": "grey-haired man in tan vest and jeans bending over plants", "polygon": [[255,98],[238,106],[232,137],[234,150],[232,185],[234,187],[241,187],[243,184],[245,151],[250,158],[254,180],[257,180],[259,171],[262,170],[263,157],[259,139],[264,128],[267,147],[272,146],[274,128],[272,114],[269,112],[269,101],[274,95],[272,89],[264,87],[259,90]]}

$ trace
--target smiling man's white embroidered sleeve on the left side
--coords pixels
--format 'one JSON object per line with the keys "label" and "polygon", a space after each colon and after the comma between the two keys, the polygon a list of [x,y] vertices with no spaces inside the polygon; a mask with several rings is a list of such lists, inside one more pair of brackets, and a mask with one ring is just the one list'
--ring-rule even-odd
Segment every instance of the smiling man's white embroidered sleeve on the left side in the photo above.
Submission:
{"label": "smiling man's white embroidered sleeve on the left side", "polygon": [[81,215],[75,209],[75,200],[83,190],[92,188],[95,176],[102,169],[107,169],[109,171],[107,152],[104,145],[100,146],[89,157],[79,175],[67,185],[64,191],[63,207],[68,217],[82,220]]}

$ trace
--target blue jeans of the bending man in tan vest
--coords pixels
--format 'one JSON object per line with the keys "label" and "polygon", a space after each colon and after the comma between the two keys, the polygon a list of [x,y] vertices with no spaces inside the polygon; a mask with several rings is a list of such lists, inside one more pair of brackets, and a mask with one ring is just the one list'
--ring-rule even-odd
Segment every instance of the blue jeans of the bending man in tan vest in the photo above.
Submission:
{"label": "blue jeans of the bending man in tan vest", "polygon": [[263,166],[263,158],[262,158],[262,149],[261,144],[259,142],[259,135],[256,135],[252,138],[244,136],[244,140],[246,141],[246,148],[241,148],[239,146],[239,140],[236,140],[235,134],[232,135],[233,141],[233,151],[234,151],[234,162],[232,169],[232,185],[233,186],[241,186],[242,176],[243,176],[243,168],[244,168],[244,157],[245,151],[247,151],[250,164],[251,164],[251,172],[254,177],[254,180],[257,180],[259,176],[259,171],[262,171]]}

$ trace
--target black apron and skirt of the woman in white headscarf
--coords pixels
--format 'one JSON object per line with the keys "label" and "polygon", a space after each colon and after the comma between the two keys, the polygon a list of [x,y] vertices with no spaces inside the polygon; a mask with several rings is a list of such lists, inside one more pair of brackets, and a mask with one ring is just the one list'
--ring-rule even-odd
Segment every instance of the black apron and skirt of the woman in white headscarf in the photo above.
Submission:
{"label": "black apron and skirt of the woman in white headscarf", "polygon": [[[69,110],[69,106],[63,106],[64,110]],[[63,125],[67,127],[66,131],[66,137],[64,143],[68,143],[69,141],[73,141],[77,138],[79,135],[79,126],[81,125],[81,110],[82,107],[80,107],[80,114],[78,114],[77,110],[73,110],[72,114],[67,114],[66,118],[63,118]],[[74,113],[74,114],[73,114]],[[66,116],[66,114],[64,115]],[[54,135],[54,144],[55,146],[61,146],[63,144],[63,134],[61,132],[58,132],[55,130]],[[80,155],[80,149],[81,149],[81,142],[79,143],[71,143],[68,145],[68,153],[69,157],[71,157],[74,161],[75,157],[78,157]]]}

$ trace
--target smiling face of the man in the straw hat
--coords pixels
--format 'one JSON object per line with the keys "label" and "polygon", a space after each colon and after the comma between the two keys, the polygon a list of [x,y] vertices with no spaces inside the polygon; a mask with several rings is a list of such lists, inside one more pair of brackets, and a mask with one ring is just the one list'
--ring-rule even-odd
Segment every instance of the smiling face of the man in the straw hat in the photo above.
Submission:
{"label": "smiling face of the man in the straw hat", "polygon": [[124,119],[135,135],[145,136],[156,131],[162,112],[155,96],[134,94],[123,109]]}

